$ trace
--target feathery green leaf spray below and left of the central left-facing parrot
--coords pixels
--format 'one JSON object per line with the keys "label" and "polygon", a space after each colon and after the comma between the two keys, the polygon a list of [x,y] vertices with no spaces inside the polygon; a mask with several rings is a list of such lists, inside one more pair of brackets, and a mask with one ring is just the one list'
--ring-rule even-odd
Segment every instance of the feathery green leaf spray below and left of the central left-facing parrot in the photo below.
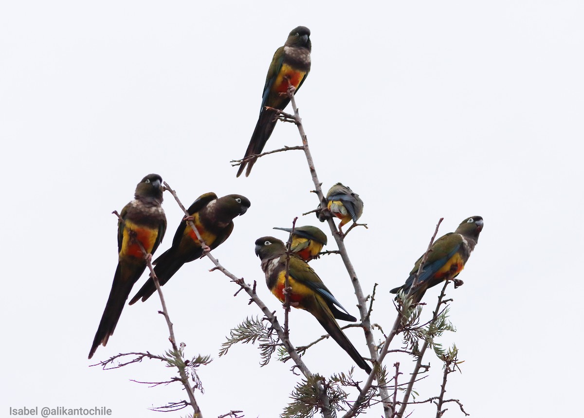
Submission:
{"label": "feathery green leaf spray below and left of the central left-facing parrot", "polygon": [[268,328],[262,321],[255,318],[245,318],[245,321],[240,323],[236,328],[232,329],[227,341],[221,344],[219,357],[227,354],[227,351],[236,343],[252,343],[260,342],[260,365],[264,366],[270,362],[270,358],[274,351],[276,351],[277,339],[274,338],[274,331]]}

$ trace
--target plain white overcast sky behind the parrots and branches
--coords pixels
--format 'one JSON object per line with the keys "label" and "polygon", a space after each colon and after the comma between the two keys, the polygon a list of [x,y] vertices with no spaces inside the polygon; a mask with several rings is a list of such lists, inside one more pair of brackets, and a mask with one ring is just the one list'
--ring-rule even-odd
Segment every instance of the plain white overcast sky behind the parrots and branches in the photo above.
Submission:
{"label": "plain white overcast sky behind the parrots and branches", "polygon": [[[155,361],[89,367],[120,352],[169,349],[155,297],[126,306],[107,347],[87,360],[117,263],[110,213],[148,173],[162,175],[185,205],[208,191],[251,200],[213,254],[257,280],[260,297],[283,318],[253,242],[286,239],[272,227],[316,207],[307,163],[300,151],[280,153],[237,179],[230,160],[248,145],[272,54],[305,25],[312,70],[298,106],[324,189],[343,182],[365,202],[360,221],[369,229],[352,231],[346,245],[364,291],[380,284],[373,321],[390,329],[388,291],[408,276],[440,217],[443,235],[481,215],[465,284],[449,291],[458,331],[443,342],[456,342],[465,362],[463,374],[450,375],[447,397],[474,417],[550,409],[573,416],[584,372],[574,356],[584,290],[583,19],[577,1],[3,2],[0,414],[9,406],[106,406],[116,417],[159,417],[147,408],[186,398],[178,384],[130,381],[174,375]],[[296,128],[280,124],[266,150],[299,143]],[[158,254],[182,216],[166,193],[164,208],[168,232]],[[313,214],[298,222],[318,223]],[[340,259],[312,265],[357,315]],[[203,414],[277,416],[297,379],[291,364],[274,358],[260,368],[253,346],[218,358],[229,330],[260,311],[244,292],[232,297],[237,286],[211,267],[206,259],[189,263],[164,287],[187,354],[214,357],[200,368]],[[438,292],[425,300],[434,304]],[[310,314],[292,313],[293,343],[322,333]],[[363,333],[347,334],[366,355]],[[352,365],[330,341],[304,359],[327,376]],[[386,364],[396,360],[411,370],[408,358]],[[432,373],[416,385],[420,399],[437,395],[442,378],[437,358],[429,353],[426,361]],[[366,378],[359,369],[356,377]],[[463,416],[448,407],[447,416]],[[418,406],[413,416],[434,410]],[[377,407],[369,415],[380,414]]]}

